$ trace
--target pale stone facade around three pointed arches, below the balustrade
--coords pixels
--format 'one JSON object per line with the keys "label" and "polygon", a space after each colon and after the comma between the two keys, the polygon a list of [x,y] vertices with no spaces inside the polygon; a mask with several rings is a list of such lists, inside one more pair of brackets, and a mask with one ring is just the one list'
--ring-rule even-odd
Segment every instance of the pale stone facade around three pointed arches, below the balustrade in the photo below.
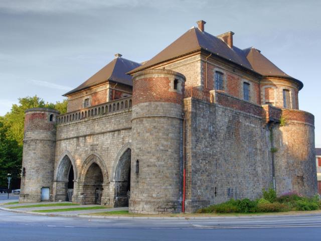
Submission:
{"label": "pale stone facade around three pointed arches, below the balustrade", "polygon": [[[58,125],[54,170],[55,173],[58,172],[65,155],[73,160],[76,181],[73,201],[85,203],[84,183],[80,179],[87,171],[84,168],[85,161],[94,155],[92,162],[98,162],[104,176],[102,204],[114,204],[113,171],[117,165],[117,156],[121,156],[121,152],[126,150],[123,150],[124,147],[130,148],[131,145],[130,119],[131,109],[126,109]],[[56,178],[55,176],[54,179]]]}

